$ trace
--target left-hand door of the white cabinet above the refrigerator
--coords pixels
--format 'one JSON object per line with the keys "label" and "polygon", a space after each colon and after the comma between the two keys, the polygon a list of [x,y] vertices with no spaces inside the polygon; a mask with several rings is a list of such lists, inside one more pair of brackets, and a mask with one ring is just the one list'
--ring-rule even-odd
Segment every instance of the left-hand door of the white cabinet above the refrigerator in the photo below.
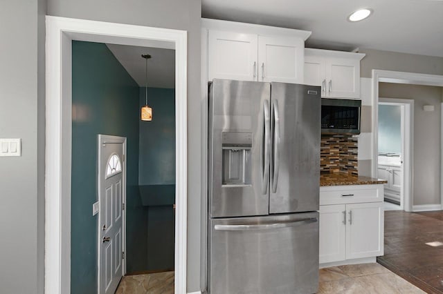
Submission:
{"label": "left-hand door of the white cabinet above the refrigerator", "polygon": [[257,81],[257,35],[210,30],[208,79]]}

